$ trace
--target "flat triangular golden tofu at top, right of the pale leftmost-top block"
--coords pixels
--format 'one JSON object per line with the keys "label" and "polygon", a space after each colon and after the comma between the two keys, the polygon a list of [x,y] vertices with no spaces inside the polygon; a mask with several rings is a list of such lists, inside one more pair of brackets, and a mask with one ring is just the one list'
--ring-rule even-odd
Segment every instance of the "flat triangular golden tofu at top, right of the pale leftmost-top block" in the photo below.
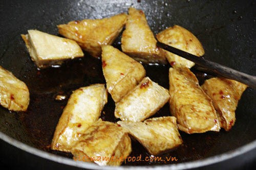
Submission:
{"label": "flat triangular golden tofu at top, right of the pale leftmost-top block", "polygon": [[84,19],[58,25],[59,34],[75,40],[83,50],[100,58],[101,45],[110,45],[122,31],[127,14],[118,14],[110,18]]}

